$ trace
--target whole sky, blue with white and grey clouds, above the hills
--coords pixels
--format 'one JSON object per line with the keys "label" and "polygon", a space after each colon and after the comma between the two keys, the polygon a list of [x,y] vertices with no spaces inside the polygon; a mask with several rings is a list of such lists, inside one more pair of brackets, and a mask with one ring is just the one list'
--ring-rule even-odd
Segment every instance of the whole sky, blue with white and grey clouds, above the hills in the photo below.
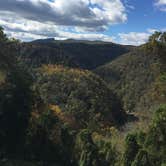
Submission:
{"label": "whole sky, blue with white and grey clouds, above the hills", "polygon": [[166,0],[0,0],[0,26],[22,41],[145,43],[166,31]]}

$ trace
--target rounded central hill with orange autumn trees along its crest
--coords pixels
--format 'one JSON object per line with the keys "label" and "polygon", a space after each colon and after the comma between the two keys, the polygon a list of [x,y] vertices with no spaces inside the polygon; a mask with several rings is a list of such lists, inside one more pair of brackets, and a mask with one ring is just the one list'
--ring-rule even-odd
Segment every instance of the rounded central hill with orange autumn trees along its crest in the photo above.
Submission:
{"label": "rounded central hill with orange autumn trees along its crest", "polygon": [[47,65],[37,75],[42,99],[70,114],[77,127],[87,127],[92,121],[100,125],[125,121],[120,100],[90,71]]}

